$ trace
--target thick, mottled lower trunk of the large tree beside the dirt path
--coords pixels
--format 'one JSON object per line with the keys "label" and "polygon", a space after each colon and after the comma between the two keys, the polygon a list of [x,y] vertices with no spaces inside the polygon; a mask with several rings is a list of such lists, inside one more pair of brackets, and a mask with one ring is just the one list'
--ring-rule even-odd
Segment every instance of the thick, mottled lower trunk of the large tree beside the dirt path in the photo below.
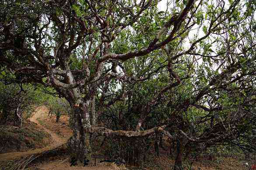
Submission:
{"label": "thick, mottled lower trunk of the large tree beside the dirt path", "polygon": [[[84,104],[85,105],[85,104]],[[73,108],[73,136],[69,138],[69,152],[71,157],[76,157],[81,162],[90,158],[90,116],[88,107]]]}

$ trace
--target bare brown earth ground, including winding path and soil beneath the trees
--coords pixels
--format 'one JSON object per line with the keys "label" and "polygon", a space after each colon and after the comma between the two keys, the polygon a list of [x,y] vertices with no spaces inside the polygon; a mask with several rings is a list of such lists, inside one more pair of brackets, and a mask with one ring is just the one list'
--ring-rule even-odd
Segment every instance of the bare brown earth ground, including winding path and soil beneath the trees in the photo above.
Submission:
{"label": "bare brown earth ground, including winding path and soil beneath the trees", "polygon": [[[35,150],[28,150],[26,152],[11,152],[0,154],[1,161],[18,160],[28,155],[39,153],[46,150],[54,149],[62,144],[66,143],[69,137],[72,135],[72,130],[68,126],[68,116],[62,115],[58,123],[55,121],[55,117],[48,116],[48,110],[46,107],[38,107],[37,111],[30,118],[31,122],[37,123],[38,127],[43,128],[52,137],[52,143],[48,147],[43,147]],[[154,155],[154,154],[152,154]],[[55,157],[47,157],[44,160],[38,160],[32,163],[29,170],[125,170],[126,167],[117,167],[114,163],[98,163],[99,158],[96,159],[96,166],[94,166],[94,160],[90,161],[89,165],[83,167],[82,163],[78,161],[78,166],[70,167],[69,156],[67,154],[58,155]],[[254,160],[255,161],[255,160]],[[215,157],[212,160],[208,160],[206,157],[193,162],[193,170],[248,170],[245,167],[241,157]],[[253,160],[251,162],[253,163]],[[255,162],[254,162],[255,163]],[[174,160],[168,156],[166,149],[160,150],[160,157],[148,158],[143,170],[170,170],[174,165]],[[189,170],[190,160],[185,161],[184,165],[187,166],[186,170]],[[1,164],[0,164],[1,167]],[[129,170],[139,170],[142,168],[127,166]],[[6,170],[3,168],[3,170]]]}

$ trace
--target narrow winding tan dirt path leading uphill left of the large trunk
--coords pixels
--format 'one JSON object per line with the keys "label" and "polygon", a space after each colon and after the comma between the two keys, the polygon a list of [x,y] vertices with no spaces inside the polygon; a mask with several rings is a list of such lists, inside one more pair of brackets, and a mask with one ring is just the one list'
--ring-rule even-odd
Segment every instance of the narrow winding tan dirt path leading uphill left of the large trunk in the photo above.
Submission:
{"label": "narrow winding tan dirt path leading uphill left of the large trunk", "polygon": [[35,122],[36,124],[38,124],[39,127],[42,127],[46,132],[48,132],[49,134],[51,134],[52,136],[52,143],[48,146],[48,147],[44,147],[44,148],[38,148],[35,150],[28,150],[26,152],[9,152],[9,153],[3,153],[0,154],[0,161],[1,160],[17,160],[20,159],[22,157],[25,157],[29,154],[33,154],[33,153],[38,153],[38,152],[42,152],[45,150],[51,150],[55,147],[58,147],[64,143],[66,143],[66,139],[60,137],[59,135],[57,135],[56,133],[52,132],[51,130],[49,130],[47,127],[42,126],[39,122],[38,122],[38,118],[46,118],[47,117],[47,113],[48,110],[45,107],[38,107],[37,111],[35,111],[35,114],[30,118],[31,122]]}

